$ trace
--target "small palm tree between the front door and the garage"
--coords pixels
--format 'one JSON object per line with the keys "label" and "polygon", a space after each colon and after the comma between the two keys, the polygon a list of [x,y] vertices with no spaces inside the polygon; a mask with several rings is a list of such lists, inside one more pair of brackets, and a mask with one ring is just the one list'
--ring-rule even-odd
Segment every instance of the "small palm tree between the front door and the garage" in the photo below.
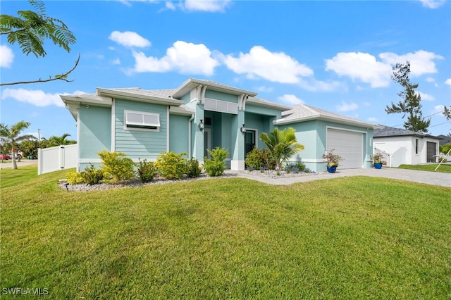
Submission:
{"label": "small palm tree between the front door and the garage", "polygon": [[278,130],[278,127],[267,134],[261,133],[260,140],[268,146],[271,156],[276,160],[276,170],[280,170],[283,161],[304,150],[304,145],[298,144],[295,135],[295,128],[287,127],[284,130]]}

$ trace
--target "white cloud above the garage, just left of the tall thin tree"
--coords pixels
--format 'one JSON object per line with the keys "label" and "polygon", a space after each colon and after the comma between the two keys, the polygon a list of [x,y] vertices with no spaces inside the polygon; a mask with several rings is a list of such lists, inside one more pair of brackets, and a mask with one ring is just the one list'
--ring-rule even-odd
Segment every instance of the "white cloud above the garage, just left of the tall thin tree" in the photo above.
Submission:
{"label": "white cloud above the garage, just left of the tall thin tree", "polygon": [[390,84],[392,68],[386,63],[376,61],[376,57],[362,52],[340,52],[326,59],[326,70],[352,80],[367,82],[371,87],[387,87]]}

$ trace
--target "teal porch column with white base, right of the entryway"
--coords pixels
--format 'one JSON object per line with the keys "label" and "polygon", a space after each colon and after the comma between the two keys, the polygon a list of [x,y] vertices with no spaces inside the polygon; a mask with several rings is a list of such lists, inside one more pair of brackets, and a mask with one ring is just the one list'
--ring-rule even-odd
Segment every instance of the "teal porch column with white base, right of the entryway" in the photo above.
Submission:
{"label": "teal porch column with white base, right of the entryway", "polygon": [[238,111],[235,118],[232,118],[232,149],[230,149],[230,169],[245,170],[245,136],[240,128],[245,124],[245,112]]}

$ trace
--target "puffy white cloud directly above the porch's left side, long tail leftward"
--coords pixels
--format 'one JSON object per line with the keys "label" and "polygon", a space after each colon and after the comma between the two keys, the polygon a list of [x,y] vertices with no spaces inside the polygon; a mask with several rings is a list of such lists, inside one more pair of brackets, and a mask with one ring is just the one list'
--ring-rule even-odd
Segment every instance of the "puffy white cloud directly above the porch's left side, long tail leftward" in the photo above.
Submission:
{"label": "puffy white cloud directly above the porch's left side, long tail leftward", "polygon": [[166,50],[162,58],[147,57],[142,52],[133,51],[135,68],[132,72],[168,72],[178,71],[182,74],[213,75],[214,68],[219,65],[211,57],[211,51],[204,44],[192,44],[177,41]]}

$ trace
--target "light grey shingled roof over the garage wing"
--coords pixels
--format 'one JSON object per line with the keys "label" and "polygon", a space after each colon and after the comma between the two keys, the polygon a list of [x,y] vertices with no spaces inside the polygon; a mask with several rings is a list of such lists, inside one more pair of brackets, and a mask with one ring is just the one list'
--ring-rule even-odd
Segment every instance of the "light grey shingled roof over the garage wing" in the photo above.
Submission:
{"label": "light grey shingled roof over the garage wing", "polygon": [[305,122],[308,120],[327,120],[340,124],[347,125],[357,125],[361,127],[370,127],[373,129],[379,126],[372,123],[367,123],[356,118],[350,118],[345,115],[339,115],[338,113],[332,113],[330,111],[325,111],[321,108],[316,108],[313,106],[308,106],[305,104],[299,104],[289,111],[284,111],[282,113],[282,118],[276,120],[274,123],[276,125]]}

